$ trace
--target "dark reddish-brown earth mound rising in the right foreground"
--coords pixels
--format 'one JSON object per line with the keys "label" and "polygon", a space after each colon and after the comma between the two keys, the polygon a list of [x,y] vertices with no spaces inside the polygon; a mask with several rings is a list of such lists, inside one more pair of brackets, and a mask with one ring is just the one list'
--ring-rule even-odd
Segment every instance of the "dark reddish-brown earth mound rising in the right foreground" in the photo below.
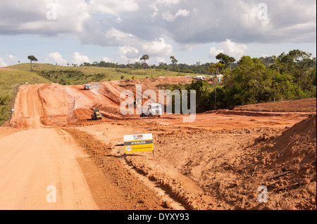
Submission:
{"label": "dark reddish-brown earth mound rising in the right foreground", "polygon": [[316,209],[316,114],[277,138],[260,136],[249,150],[251,178],[244,185],[268,187],[268,203],[256,209]]}

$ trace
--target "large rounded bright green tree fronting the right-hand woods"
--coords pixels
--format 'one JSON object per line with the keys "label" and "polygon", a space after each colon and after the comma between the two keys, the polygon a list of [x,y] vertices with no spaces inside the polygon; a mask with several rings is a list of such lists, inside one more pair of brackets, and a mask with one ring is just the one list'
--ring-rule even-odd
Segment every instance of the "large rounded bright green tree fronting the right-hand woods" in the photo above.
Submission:
{"label": "large rounded bright green tree fronting the right-hand woods", "polygon": [[286,74],[278,76],[276,70],[267,68],[259,58],[242,56],[237,65],[228,74],[226,70],[223,77],[227,100],[232,106],[269,102],[280,93],[288,95],[292,91],[292,79]]}

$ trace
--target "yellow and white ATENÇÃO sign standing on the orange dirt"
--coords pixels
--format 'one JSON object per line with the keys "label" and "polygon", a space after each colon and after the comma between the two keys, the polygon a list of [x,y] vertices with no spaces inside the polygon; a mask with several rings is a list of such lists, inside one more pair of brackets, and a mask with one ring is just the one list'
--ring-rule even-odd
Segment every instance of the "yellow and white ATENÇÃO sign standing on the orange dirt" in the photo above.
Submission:
{"label": "yellow and white ATEN\u00c7\u00c3O sign standing on the orange dirt", "polygon": [[145,151],[154,152],[152,134],[123,136],[123,141],[125,143],[125,153]]}

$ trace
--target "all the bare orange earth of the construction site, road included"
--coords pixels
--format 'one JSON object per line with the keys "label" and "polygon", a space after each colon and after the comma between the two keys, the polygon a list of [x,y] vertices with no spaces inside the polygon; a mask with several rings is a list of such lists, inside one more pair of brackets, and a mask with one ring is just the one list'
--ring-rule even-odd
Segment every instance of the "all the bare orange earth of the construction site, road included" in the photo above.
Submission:
{"label": "all the bare orange earth of the construction site, road included", "polygon": [[[92,84],[92,91],[20,86],[14,129],[0,129],[0,209],[316,209],[316,156],[306,157],[316,155],[310,150],[316,147],[316,116],[305,123],[309,129],[292,128],[316,114],[311,107],[316,99],[306,100],[305,110],[290,103],[260,111],[249,106],[197,114],[192,123],[183,123],[181,115],[120,115],[118,95],[125,88],[142,84],[143,90],[157,91],[157,84],[187,82],[111,81]],[[89,120],[96,106],[103,121]],[[137,133],[154,134],[155,157],[151,152],[123,157],[116,144]],[[291,164],[280,153],[301,146]],[[273,164],[278,156],[285,157],[283,165]],[[282,169],[298,172],[264,181]],[[56,204],[46,202],[48,185],[58,190]],[[266,204],[257,202],[259,185],[275,186]]]}

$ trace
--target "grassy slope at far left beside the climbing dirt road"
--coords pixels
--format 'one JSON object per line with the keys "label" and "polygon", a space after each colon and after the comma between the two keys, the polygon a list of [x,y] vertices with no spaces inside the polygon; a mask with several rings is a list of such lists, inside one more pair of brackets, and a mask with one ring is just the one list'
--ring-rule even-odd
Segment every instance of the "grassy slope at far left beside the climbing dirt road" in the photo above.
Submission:
{"label": "grassy slope at far left beside the climbing dirt road", "polygon": [[0,70],[0,126],[10,116],[16,86],[23,82],[30,84],[51,83],[51,81],[44,79],[36,72]]}

